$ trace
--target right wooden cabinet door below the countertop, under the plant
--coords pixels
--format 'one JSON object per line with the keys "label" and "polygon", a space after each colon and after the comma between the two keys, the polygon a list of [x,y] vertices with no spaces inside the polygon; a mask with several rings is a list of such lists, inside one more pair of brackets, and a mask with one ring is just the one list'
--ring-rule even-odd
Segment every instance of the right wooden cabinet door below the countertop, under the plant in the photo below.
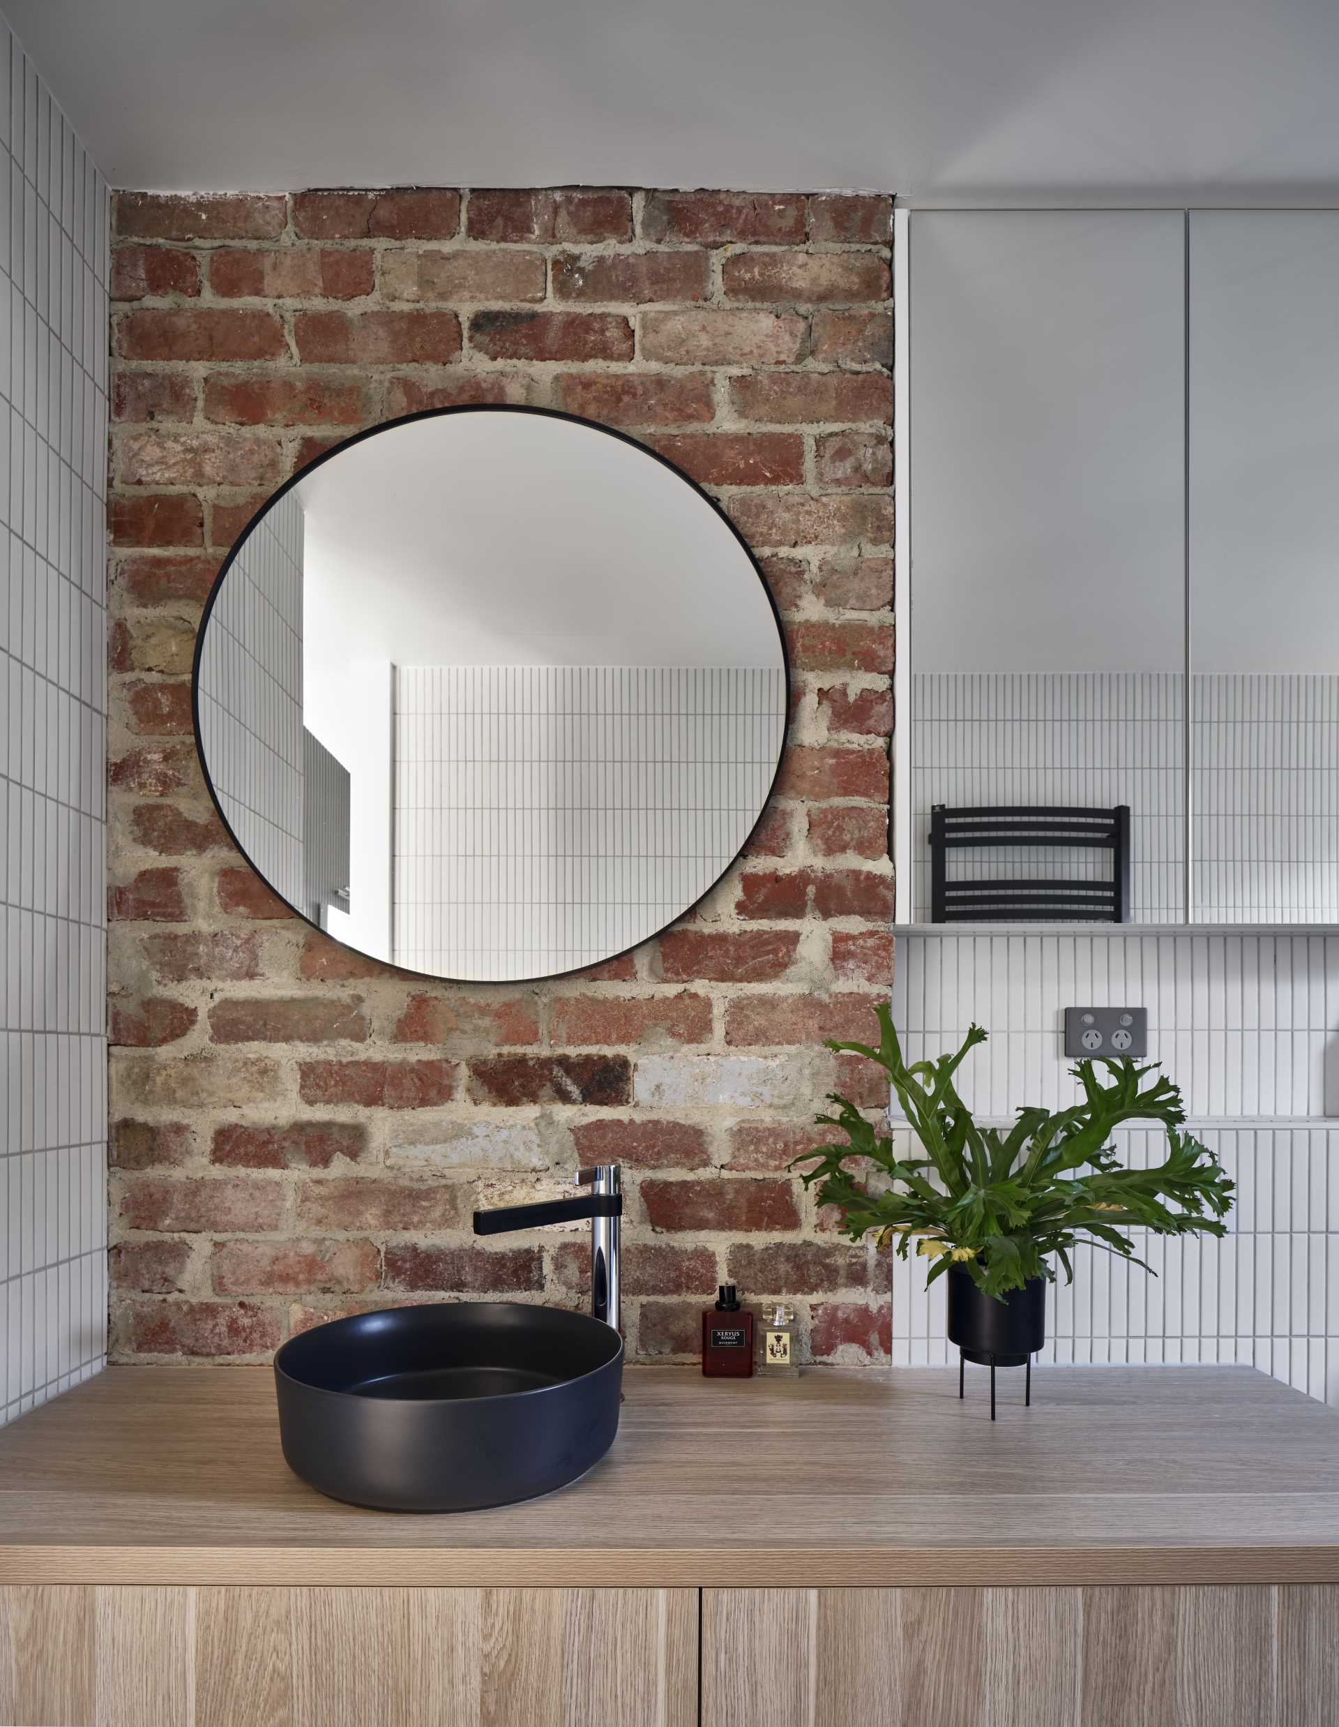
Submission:
{"label": "right wooden cabinet door below the countertop, under the plant", "polygon": [[706,1589],[702,1727],[1325,1727],[1339,1589]]}

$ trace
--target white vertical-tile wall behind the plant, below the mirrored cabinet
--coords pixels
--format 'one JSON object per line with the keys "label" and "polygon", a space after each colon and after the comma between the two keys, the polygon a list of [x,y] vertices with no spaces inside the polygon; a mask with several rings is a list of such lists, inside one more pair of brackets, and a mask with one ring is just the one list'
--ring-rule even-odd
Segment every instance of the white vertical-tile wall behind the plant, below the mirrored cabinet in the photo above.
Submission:
{"label": "white vertical-tile wall behind the plant, below the mirrored cabinet", "polygon": [[[1077,1100],[1063,1009],[1149,1009],[1149,1055],[1237,1181],[1222,1242],[1082,1252],[1053,1300],[1054,1361],[1241,1361],[1339,1404],[1339,938],[1263,933],[970,933],[897,938],[894,1021],[909,1059],[990,1041],[959,1071],[985,1117]],[[1134,1162],[1160,1136],[1122,1135]],[[897,1264],[894,1361],[947,1361],[942,1285]]]}

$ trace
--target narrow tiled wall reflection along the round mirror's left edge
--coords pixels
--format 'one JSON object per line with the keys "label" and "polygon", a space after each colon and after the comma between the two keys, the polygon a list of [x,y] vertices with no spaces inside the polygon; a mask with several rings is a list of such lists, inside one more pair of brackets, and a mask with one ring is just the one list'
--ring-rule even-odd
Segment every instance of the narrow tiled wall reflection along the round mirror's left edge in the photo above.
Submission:
{"label": "narrow tiled wall reflection along the round mirror's left edge", "polygon": [[242,850],[302,907],[302,504],[288,492],[248,535],[200,656],[200,741]]}

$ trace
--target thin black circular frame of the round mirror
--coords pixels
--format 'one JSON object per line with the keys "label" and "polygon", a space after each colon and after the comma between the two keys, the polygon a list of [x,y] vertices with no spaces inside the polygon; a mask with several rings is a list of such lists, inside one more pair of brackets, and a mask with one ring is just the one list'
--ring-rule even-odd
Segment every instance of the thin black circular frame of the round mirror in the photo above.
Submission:
{"label": "thin black circular frame of the round mirror", "polygon": [[[362,444],[369,437],[376,437],[380,432],[390,432],[395,427],[412,425],[418,420],[443,420],[447,414],[480,414],[480,413],[487,413],[487,414],[538,414],[544,420],[568,420],[573,425],[588,427],[592,432],[602,432],[606,437],[618,439],[619,444],[630,444],[633,449],[640,451],[644,456],[651,458],[652,461],[661,463],[661,466],[668,468],[685,485],[692,487],[692,490],[697,492],[697,496],[707,504],[707,508],[713,509],[720,516],[720,520],[730,530],[730,534],[733,535],[733,539],[742,547],[745,558],[752,565],[752,572],[758,577],[759,587],[766,594],[768,604],[771,608],[771,620],[776,625],[776,641],[780,642],[780,648],[782,648],[782,672],[783,672],[783,682],[785,682],[785,720],[783,720],[783,731],[782,731],[782,751],[776,756],[776,767],[773,769],[771,781],[768,784],[768,791],[766,791],[766,796],[763,798],[763,805],[761,805],[761,808],[758,812],[756,820],[749,827],[749,832],[744,836],[744,843],[740,845],[739,851],[735,851],[735,855],[730,858],[730,862],[725,865],[725,869],[721,869],[720,876],[716,876],[716,879],[713,882],[709,882],[709,886],[702,893],[699,893],[699,896],[692,903],[685,905],[682,912],[676,912],[670,919],[668,924],[661,924],[659,929],[654,929],[649,936],[644,936],[640,941],[633,941],[632,946],[619,948],[614,953],[606,953],[599,960],[592,960],[588,965],[573,965],[568,971],[561,971],[561,972],[538,972],[533,977],[506,977],[506,979],[502,979],[502,977],[497,977],[497,979],[493,979],[493,977],[443,977],[440,972],[409,971],[404,965],[395,965],[393,960],[376,960],[376,955],[364,953],[362,948],[354,948],[347,941],[340,941],[338,936],[331,936],[328,929],[321,929],[321,926],[316,924],[311,917],[307,917],[305,912],[299,910],[299,907],[295,907],[292,903],[292,900],[285,900],[285,896],[281,893],[278,893],[276,888],[271,886],[271,882],[255,867],[255,864],[254,864],[250,853],[247,851],[247,848],[236,838],[236,832],[233,831],[233,824],[228,820],[228,812],[223,808],[219,794],[217,794],[217,791],[214,788],[214,777],[209,772],[209,762],[205,760],[205,751],[204,751],[202,734],[200,734],[200,658],[204,655],[205,630],[209,629],[209,620],[211,620],[211,617],[214,613],[214,603],[219,598],[219,594],[223,592],[223,584],[228,580],[228,572],[233,568],[233,563],[235,563],[238,553],[242,551],[242,547],[250,539],[250,534],[254,532],[254,528],[257,527],[257,523],[261,522],[261,518],[264,515],[267,515],[267,511],[281,497],[285,497],[288,492],[292,492],[292,489],[295,485],[299,485],[302,480],[305,480],[309,473],[314,473],[316,468],[319,468],[323,463],[330,461],[331,458],[342,454],[343,451],[352,449],[354,444]],[[768,579],[763,575],[763,566],[759,565],[758,558],[754,556],[752,547],[744,539],[744,535],[735,527],[735,523],[730,520],[730,516],[725,513],[725,509],[706,490],[706,487],[699,485],[697,480],[692,478],[692,475],[685,473],[678,466],[678,463],[671,461],[668,456],[663,456],[657,449],[652,449],[649,444],[644,444],[640,439],[630,437],[626,432],[618,432],[614,427],[600,425],[599,420],[587,420],[583,414],[568,414],[568,413],[563,413],[557,408],[528,408],[528,406],[521,406],[521,404],[514,404],[514,402],[462,402],[462,404],[459,404],[456,408],[426,408],[426,409],[423,409],[421,413],[416,413],[416,414],[399,414],[395,420],[381,420],[374,427],[366,427],[362,432],[355,432],[352,437],[342,439],[338,444],[333,444],[330,449],[321,451],[319,456],[314,456],[312,461],[305,463],[293,475],[290,475],[290,478],[285,480],[283,485],[278,487],[278,490],[271,492],[271,496],[264,501],[264,504],[261,504],[261,508],[247,522],[245,528],[233,541],[233,546],[231,546],[228,556],[224,558],[224,561],[223,561],[221,568],[219,568],[219,573],[214,577],[214,582],[212,582],[212,585],[209,589],[209,596],[207,596],[205,604],[204,604],[204,611],[200,613],[200,625],[198,625],[198,630],[195,634],[195,653],[192,656],[192,674],[190,674],[192,731],[193,731],[193,736],[195,736],[195,755],[197,755],[197,758],[200,762],[200,772],[204,774],[205,788],[209,789],[209,796],[211,796],[211,801],[212,801],[214,808],[217,810],[219,820],[223,822],[223,827],[224,827],[228,838],[231,839],[233,846],[236,848],[238,855],[245,860],[245,864],[248,865],[248,869],[252,869],[255,872],[255,876],[261,881],[266,882],[266,888],[269,888],[269,891],[274,895],[276,900],[280,900],[283,905],[288,907],[288,910],[293,914],[293,917],[300,919],[311,929],[319,931],[319,934],[323,934],[328,941],[333,941],[336,946],[347,948],[350,953],[359,953],[362,958],[369,958],[374,964],[381,964],[388,971],[397,971],[397,972],[400,972],[405,977],[424,977],[424,979],[430,979],[433,983],[454,983],[454,984],[461,984],[461,986],[466,986],[466,988],[516,988],[519,984],[530,984],[530,983],[550,983],[550,981],[554,981],[557,977],[580,977],[583,972],[594,971],[594,967],[597,967],[597,965],[609,965],[613,960],[623,958],[628,953],[635,953],[637,948],[645,946],[649,941],[656,941],[659,936],[664,934],[666,929],[673,929],[675,924],[680,922],[680,919],[683,919],[690,912],[694,912],[702,903],[702,900],[707,898],[707,895],[714,893],[714,889],[730,874],[730,870],[735,867],[735,864],[739,864],[739,860],[749,850],[749,841],[758,832],[758,829],[759,829],[759,826],[763,822],[763,817],[768,813],[771,800],[773,800],[773,796],[776,793],[776,781],[780,779],[780,774],[782,774],[782,763],[785,762],[785,751],[789,748],[790,703],[792,703],[790,648],[789,648],[787,639],[785,639],[785,629],[783,629],[783,623],[782,623],[780,608],[776,604],[776,596],[768,587]]]}

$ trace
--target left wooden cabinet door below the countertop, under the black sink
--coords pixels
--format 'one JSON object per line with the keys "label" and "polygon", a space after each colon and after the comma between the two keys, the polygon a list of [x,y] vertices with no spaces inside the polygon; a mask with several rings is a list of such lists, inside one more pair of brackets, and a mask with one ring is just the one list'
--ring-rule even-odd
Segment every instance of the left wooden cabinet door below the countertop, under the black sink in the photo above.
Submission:
{"label": "left wooden cabinet door below the countertop, under the black sink", "polygon": [[695,1727],[688,1589],[0,1589],[14,1727]]}

